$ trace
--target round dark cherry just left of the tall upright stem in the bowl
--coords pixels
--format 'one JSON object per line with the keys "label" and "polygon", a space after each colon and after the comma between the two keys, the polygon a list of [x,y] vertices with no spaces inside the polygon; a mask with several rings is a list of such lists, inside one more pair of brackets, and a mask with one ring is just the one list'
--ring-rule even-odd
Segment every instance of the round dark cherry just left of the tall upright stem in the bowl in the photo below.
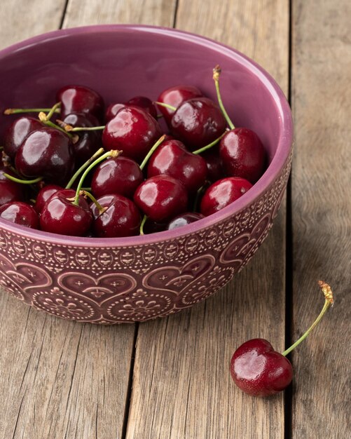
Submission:
{"label": "round dark cherry just left of the tall upright stem in the bowl", "polygon": [[171,134],[193,151],[213,142],[226,129],[219,107],[208,97],[186,100],[174,112]]}

